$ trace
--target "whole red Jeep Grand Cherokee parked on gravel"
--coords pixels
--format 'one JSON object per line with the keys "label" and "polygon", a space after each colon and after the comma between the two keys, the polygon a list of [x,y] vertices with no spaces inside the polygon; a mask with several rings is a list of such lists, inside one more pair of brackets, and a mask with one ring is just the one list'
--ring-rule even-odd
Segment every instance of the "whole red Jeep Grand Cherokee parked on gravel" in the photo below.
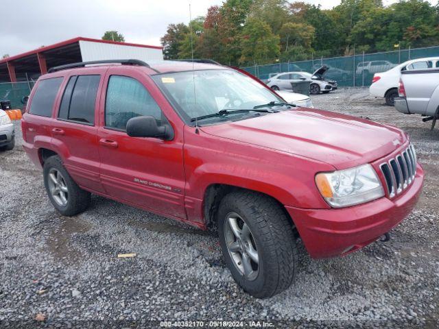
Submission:
{"label": "whole red Jeep Grand Cherokee parked on gravel", "polygon": [[270,297],[299,237],[313,258],[348,254],[416,204],[423,169],[396,127],[296,108],[219,64],[99,63],[40,77],[21,121],[62,215],[95,193],[217,229],[233,278]]}

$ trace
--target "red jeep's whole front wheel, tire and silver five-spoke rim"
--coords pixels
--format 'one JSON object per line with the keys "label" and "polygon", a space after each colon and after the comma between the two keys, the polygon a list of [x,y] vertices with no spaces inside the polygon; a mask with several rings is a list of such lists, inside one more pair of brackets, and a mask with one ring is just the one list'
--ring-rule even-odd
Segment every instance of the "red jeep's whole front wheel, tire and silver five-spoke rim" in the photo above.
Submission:
{"label": "red jeep's whole front wheel, tire and silver five-spoke rim", "polygon": [[287,289],[297,267],[292,223],[273,199],[233,192],[222,199],[218,233],[226,264],[250,295],[272,297]]}

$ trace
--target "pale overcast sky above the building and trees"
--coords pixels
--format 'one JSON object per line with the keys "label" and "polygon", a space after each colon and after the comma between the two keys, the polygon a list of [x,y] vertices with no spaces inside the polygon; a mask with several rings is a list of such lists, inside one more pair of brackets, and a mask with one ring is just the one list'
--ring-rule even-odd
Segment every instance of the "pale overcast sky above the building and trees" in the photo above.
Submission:
{"label": "pale overcast sky above the building and trees", "polygon": [[[207,8],[221,5],[223,0],[1,0],[2,8],[8,10],[2,11],[0,56],[14,56],[76,36],[101,38],[112,29],[121,32],[126,42],[160,45],[169,23],[189,21],[189,2],[194,18],[204,16]],[[307,2],[327,9],[340,0]]]}

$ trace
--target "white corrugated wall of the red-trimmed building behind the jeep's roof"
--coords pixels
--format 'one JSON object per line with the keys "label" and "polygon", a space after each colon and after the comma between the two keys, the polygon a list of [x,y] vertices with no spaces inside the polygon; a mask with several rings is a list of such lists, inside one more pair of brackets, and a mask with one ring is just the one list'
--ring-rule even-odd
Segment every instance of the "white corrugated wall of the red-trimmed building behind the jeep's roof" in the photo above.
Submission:
{"label": "white corrugated wall of the red-trimmed building behind the jeep's roof", "polygon": [[80,40],[82,61],[91,60],[163,60],[162,49],[114,45],[111,43]]}

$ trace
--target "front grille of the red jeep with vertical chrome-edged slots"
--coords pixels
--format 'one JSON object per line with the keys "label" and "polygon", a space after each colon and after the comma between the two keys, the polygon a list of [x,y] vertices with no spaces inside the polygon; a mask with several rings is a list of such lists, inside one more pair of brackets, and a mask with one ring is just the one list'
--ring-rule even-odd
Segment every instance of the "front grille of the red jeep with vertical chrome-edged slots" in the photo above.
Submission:
{"label": "front grille of the red jeep with vertical chrome-edged slots", "polygon": [[390,198],[401,194],[412,184],[416,174],[416,163],[416,153],[413,145],[410,144],[400,154],[379,166]]}

